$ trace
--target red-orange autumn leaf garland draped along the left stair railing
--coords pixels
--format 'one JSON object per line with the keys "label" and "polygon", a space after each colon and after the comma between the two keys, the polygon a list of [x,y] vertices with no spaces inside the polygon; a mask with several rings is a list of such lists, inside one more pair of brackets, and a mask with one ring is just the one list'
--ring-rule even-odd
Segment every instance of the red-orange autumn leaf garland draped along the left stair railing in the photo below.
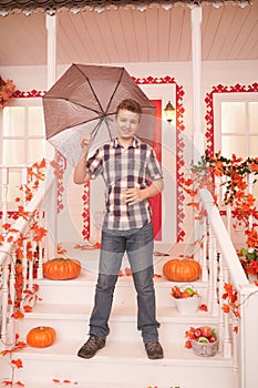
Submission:
{"label": "red-orange autumn leaf garland draped along the left stair railing", "polygon": [[[45,161],[34,163],[28,169],[28,184],[21,186],[20,190],[25,194],[25,201],[30,202],[33,197],[34,191],[39,187],[39,182],[44,180],[44,169]],[[25,190],[24,190],[25,188]],[[21,198],[16,198],[16,202],[20,202]],[[18,214],[20,217],[28,219],[29,213],[24,210],[22,205],[18,206]],[[35,221],[31,229],[33,232],[32,242],[38,244],[47,235],[47,231],[38,225]],[[19,231],[14,229],[11,224],[6,223],[2,225],[3,233],[0,235],[0,246],[4,243],[13,244],[16,243],[14,257],[16,262],[10,266],[11,270],[14,272],[14,299],[9,297],[9,305],[12,305],[13,313],[11,317],[13,319],[23,319],[24,313],[32,312],[33,300],[38,299],[39,285],[33,284],[30,287],[24,287],[24,276],[23,276],[23,258],[28,262],[34,259],[34,253],[32,249],[32,242],[27,241],[28,236],[23,236]],[[25,244],[24,244],[25,243]],[[8,344],[9,348],[0,353],[1,356],[9,357],[9,364],[11,367],[11,378],[9,380],[2,381],[3,386],[7,387],[24,387],[21,381],[14,382],[16,369],[23,367],[22,360],[20,358],[13,358],[13,354],[22,350],[27,344],[19,339],[19,334],[16,334],[14,343]]]}

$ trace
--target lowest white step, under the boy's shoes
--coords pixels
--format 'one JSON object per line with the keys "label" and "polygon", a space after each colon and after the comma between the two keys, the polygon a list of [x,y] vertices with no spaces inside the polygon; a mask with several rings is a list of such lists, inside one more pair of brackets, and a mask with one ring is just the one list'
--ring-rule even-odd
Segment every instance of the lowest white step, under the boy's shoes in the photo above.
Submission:
{"label": "lowest white step, under the boy's shoes", "polygon": [[[23,368],[16,379],[27,388],[58,387],[53,379],[70,384],[65,387],[120,388],[231,388],[231,359],[199,357],[192,349],[169,341],[163,343],[165,358],[149,360],[142,341],[107,339],[105,348],[92,359],[76,356],[81,341],[66,340],[44,349],[25,348],[19,354]],[[1,368],[2,379],[10,377],[10,368]]]}

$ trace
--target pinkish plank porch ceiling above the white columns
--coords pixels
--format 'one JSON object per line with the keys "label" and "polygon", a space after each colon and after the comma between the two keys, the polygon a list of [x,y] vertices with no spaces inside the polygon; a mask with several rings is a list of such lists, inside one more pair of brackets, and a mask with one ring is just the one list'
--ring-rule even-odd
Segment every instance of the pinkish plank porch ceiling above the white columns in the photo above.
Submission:
{"label": "pinkish plank porch ceiling above the white columns", "polygon": [[[56,14],[58,64],[192,59],[190,9],[183,3],[169,8],[156,2],[145,11],[132,4],[117,9],[113,4],[109,11],[85,8],[78,13],[61,8]],[[219,8],[203,2],[202,34],[204,61],[258,60],[258,0],[245,8],[234,2]],[[0,17],[0,35],[1,67],[47,63],[42,11]]]}

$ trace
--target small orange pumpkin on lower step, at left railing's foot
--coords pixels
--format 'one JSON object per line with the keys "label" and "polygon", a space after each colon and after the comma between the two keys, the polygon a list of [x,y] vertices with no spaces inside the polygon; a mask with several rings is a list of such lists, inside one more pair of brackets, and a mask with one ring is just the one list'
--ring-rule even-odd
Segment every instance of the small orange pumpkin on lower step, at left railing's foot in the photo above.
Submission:
{"label": "small orange pumpkin on lower step, at left railing's foot", "polygon": [[33,327],[27,335],[27,344],[34,348],[45,348],[55,340],[55,330],[52,327]]}

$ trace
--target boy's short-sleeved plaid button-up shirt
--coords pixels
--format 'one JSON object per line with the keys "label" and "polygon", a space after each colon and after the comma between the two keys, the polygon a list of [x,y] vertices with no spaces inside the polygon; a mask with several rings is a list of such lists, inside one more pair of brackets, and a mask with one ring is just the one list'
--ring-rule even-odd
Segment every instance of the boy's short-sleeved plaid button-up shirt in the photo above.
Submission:
{"label": "boy's short-sleeved plaid button-up shirt", "polygon": [[149,180],[163,177],[154,150],[134,137],[126,150],[115,139],[96,150],[86,162],[91,178],[102,174],[105,185],[106,213],[103,226],[109,229],[131,229],[149,223],[151,206],[148,200],[136,204],[126,204],[126,188],[145,188]]}

